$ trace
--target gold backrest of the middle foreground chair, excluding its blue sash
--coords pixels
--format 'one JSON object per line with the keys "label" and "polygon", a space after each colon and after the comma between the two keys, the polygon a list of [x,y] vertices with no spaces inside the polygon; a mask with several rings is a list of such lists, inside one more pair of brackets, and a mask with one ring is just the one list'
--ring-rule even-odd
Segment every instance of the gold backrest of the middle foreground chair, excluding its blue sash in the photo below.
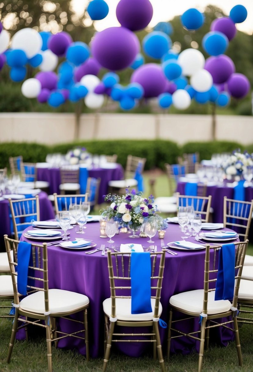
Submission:
{"label": "gold backrest of the middle foreground chair, excluding its blue sash", "polygon": [[[108,253],[108,271],[110,279],[112,313],[116,317],[116,298],[131,298],[126,291],[131,289],[131,253]],[[164,272],[165,251],[150,253],[151,259],[151,298],[155,298],[154,318],[158,317],[158,308],[161,297],[162,279]]]}

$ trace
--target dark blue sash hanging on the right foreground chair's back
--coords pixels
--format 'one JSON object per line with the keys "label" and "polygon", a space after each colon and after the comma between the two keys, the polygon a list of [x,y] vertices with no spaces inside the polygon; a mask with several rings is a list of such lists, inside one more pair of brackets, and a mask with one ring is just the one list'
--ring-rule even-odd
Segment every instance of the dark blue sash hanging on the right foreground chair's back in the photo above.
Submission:
{"label": "dark blue sash hanging on the right foreground chair's back", "polygon": [[235,260],[234,244],[224,244],[219,251],[215,300],[231,300],[233,298]]}

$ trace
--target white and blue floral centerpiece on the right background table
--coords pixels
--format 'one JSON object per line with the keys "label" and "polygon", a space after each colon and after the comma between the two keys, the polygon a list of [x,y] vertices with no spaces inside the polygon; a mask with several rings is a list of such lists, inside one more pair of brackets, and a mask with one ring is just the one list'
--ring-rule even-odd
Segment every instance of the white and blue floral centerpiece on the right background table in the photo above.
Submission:
{"label": "white and blue floral centerpiece on the right background table", "polygon": [[241,153],[240,149],[233,153],[221,164],[228,176],[241,176],[243,170],[253,166],[252,156],[247,152]]}

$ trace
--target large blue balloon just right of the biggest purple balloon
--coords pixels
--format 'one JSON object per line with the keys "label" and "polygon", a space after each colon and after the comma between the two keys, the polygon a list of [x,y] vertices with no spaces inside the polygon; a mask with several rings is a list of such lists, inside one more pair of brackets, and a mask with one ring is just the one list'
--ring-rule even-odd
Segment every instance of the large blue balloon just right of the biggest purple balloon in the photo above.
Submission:
{"label": "large blue balloon just right of the biggest purple balloon", "polygon": [[171,39],[166,33],[153,31],[148,33],[142,40],[144,52],[152,58],[160,59],[171,48]]}

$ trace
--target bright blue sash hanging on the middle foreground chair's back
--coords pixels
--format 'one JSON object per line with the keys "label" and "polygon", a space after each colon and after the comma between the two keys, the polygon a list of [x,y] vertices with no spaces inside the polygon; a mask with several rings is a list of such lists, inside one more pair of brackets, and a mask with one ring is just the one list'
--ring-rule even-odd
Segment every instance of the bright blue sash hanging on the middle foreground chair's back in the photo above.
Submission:
{"label": "bright blue sash hanging on the middle foreground chair's back", "polygon": [[131,314],[152,312],[151,260],[149,252],[131,253]]}

